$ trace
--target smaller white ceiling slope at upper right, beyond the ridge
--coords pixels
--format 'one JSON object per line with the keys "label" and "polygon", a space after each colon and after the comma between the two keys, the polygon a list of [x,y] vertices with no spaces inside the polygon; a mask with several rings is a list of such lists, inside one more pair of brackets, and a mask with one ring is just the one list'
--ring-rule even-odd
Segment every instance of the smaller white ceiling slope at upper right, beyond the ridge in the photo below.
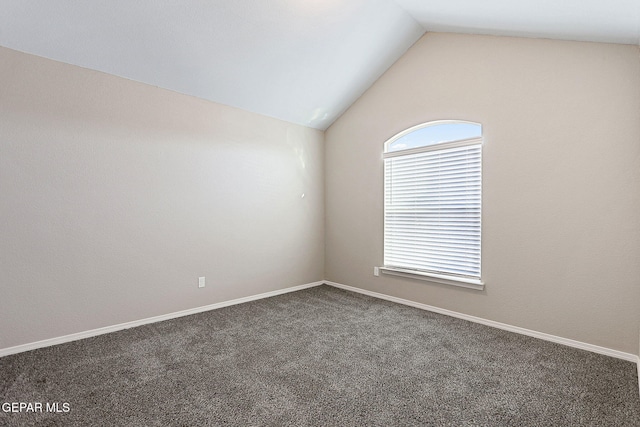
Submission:
{"label": "smaller white ceiling slope at upper right, beyond the ridge", "polygon": [[427,31],[640,44],[640,0],[396,0]]}

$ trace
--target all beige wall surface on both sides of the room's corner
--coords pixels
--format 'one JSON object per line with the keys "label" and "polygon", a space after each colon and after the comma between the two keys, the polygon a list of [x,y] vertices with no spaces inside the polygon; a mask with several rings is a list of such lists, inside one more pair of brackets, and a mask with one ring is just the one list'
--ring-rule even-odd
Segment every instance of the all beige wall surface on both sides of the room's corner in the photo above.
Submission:
{"label": "all beige wall surface on both sides of the room's corner", "polygon": [[[427,34],[323,147],[0,48],[0,349],[324,277],[637,354],[638,53]],[[382,144],[448,118],[484,125],[483,292],[372,274]]]}

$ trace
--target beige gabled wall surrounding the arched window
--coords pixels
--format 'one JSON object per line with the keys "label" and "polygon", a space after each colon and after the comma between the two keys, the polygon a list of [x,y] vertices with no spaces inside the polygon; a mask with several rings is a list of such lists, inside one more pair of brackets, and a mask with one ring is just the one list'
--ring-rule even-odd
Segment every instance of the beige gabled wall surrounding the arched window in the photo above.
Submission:
{"label": "beige gabled wall surrounding the arched window", "polygon": [[[637,46],[426,34],[325,135],[328,280],[632,354],[640,322]],[[484,125],[485,291],[374,277],[386,139]]]}

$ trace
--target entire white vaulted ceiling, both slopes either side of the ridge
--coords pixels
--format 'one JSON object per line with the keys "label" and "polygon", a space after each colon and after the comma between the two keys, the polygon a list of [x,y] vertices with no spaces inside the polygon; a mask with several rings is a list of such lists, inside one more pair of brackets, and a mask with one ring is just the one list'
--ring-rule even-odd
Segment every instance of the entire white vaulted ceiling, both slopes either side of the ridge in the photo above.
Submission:
{"label": "entire white vaulted ceiling, both slopes either side of the ridge", "polygon": [[326,129],[426,31],[640,44],[639,0],[0,0],[0,45]]}

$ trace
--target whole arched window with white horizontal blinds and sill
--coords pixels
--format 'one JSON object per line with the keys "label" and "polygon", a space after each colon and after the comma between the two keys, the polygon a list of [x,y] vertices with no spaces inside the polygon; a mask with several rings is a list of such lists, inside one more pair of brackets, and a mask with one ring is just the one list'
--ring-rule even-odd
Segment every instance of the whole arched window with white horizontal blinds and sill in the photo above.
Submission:
{"label": "whole arched window with white horizontal blinds and sill", "polygon": [[384,145],[384,267],[482,288],[482,125],[424,123]]}

